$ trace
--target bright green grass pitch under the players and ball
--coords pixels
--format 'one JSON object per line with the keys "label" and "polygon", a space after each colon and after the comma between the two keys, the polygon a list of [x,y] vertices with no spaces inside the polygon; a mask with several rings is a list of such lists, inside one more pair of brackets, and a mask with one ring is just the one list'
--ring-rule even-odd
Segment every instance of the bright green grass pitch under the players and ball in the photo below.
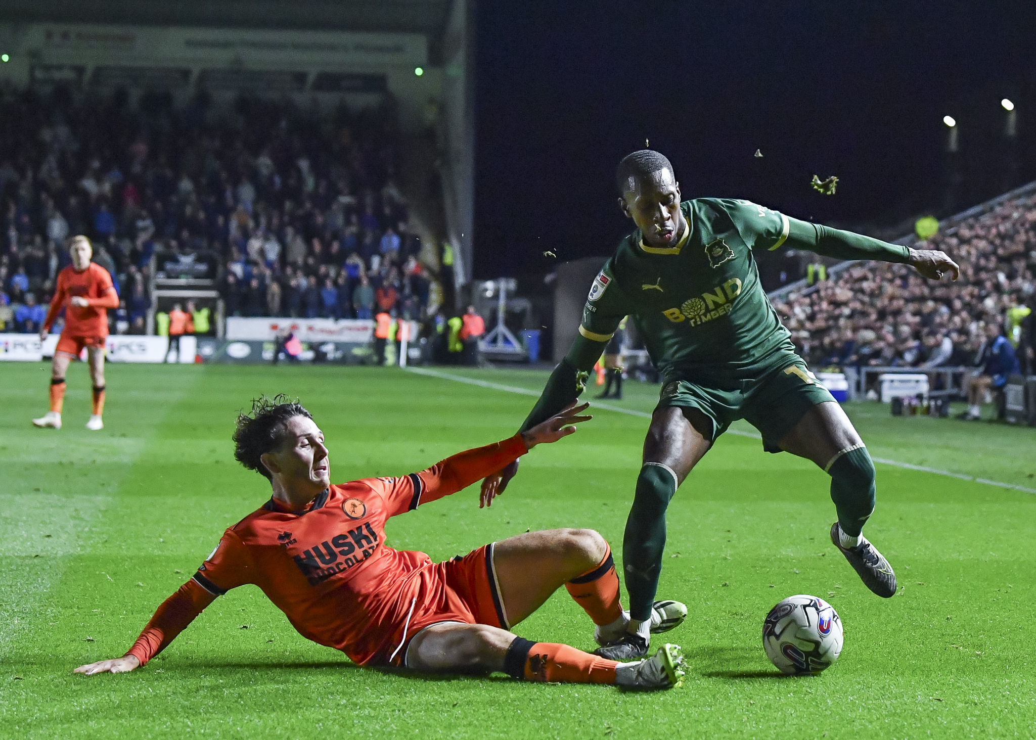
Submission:
{"label": "bright green grass pitch under the players and ball", "polygon": [[[869,538],[901,585],[872,596],[828,541],[828,479],[725,435],[669,509],[660,596],[685,601],[683,688],[624,693],[502,676],[422,678],[353,666],[296,634],[254,587],[219,599],[145,668],[85,678],[121,655],[223,530],[269,496],[238,466],[234,414],[259,393],[298,396],[324,429],[332,478],[423,468],[513,433],[533,399],[342,367],[108,368],[102,432],[83,428],[89,380],[69,372],[64,429],[33,429],[49,368],[0,366],[0,737],[712,738],[1034,737],[1036,495],[879,464]],[[466,371],[539,390],[533,371]],[[627,383],[627,408],[658,388]],[[1036,430],[850,414],[875,457],[1036,488]],[[599,530],[621,554],[646,420],[598,410],[538,448],[490,510],[474,488],[393,519],[388,543],[445,559],[528,529]],[[747,429],[747,427],[741,427]],[[829,600],[841,658],[784,678],[762,618],[785,596]],[[591,648],[564,590],[519,625]]]}

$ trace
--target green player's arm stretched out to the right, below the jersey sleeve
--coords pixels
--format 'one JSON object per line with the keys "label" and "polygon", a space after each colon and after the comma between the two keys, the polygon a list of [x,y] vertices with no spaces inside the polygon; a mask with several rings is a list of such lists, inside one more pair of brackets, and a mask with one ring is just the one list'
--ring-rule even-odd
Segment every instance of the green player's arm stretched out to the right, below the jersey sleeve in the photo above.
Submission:
{"label": "green player's arm stretched out to the right, below the jersey sleeve", "polygon": [[944,252],[893,245],[863,234],[832,229],[799,219],[787,221],[786,244],[793,249],[804,249],[836,259],[875,259],[909,264],[931,280],[939,280],[944,275],[951,275],[953,280],[956,280],[960,275],[960,267]]}

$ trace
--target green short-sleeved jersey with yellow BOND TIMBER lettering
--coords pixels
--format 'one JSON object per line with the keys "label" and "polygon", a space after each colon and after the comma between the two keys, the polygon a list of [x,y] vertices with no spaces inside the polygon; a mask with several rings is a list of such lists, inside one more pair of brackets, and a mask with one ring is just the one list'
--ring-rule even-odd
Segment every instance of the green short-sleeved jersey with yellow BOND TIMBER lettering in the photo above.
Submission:
{"label": "green short-sleeved jersey with yellow BOND TIMBER lettering", "polygon": [[591,287],[579,333],[603,342],[632,315],[666,380],[749,379],[795,352],[759,282],[753,249],[774,250],[788,219],[746,200],[681,203],[687,230],[650,247],[638,230],[620,243]]}

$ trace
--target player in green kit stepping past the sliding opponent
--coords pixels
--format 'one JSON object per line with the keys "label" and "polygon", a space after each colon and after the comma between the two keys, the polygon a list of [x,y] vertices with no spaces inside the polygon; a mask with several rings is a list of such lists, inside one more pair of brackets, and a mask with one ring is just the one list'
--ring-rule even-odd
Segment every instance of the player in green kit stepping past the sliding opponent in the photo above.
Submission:
{"label": "player in green kit stepping past the sliding opponent", "polygon": [[[892,567],[862,533],[874,509],[874,464],[841,406],[796,354],[759,283],[753,251],[802,249],[900,262],[932,280],[946,274],[956,279],[957,264],[943,252],[814,225],[744,200],[681,202],[672,166],[651,149],[622,161],[617,184],[618,205],[637,228],[594,280],[579,336],[521,427],[578,397],[582,373],[594,367],[623,317],[634,317],[663,383],[623,542],[630,619],[598,654],[613,660],[646,655],[666,507],[738,419],[762,433],[766,451],[807,458],[831,476],[838,514],[832,542],[867,588],[893,596]],[[491,501],[517,469],[514,462],[487,478],[484,495]]]}

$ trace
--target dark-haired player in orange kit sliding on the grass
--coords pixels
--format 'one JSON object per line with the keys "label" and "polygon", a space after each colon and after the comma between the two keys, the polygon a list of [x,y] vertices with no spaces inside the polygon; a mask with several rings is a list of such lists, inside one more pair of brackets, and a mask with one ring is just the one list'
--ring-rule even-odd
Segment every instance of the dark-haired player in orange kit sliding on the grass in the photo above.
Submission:
{"label": "dark-haired player in orange kit sliding on the grass", "polygon": [[[611,551],[593,530],[526,533],[442,563],[384,544],[388,517],[456,493],[536,445],[571,434],[573,424],[591,418],[579,416],[587,405],[570,404],[527,431],[421,473],[330,485],[327,448],[310,412],[283,396],[260,398],[251,416],[238,417],[234,457],[269,480],[270,500],[224,533],[124,656],[76,673],[142,666],[217,597],[254,584],[300,634],[359,665],[503,671],[529,681],[639,688],[677,685],[683,676],[677,646],[620,663],[510,631],[562,585],[598,625],[599,643],[602,631],[626,628]],[[482,491],[484,503],[490,493]]]}

